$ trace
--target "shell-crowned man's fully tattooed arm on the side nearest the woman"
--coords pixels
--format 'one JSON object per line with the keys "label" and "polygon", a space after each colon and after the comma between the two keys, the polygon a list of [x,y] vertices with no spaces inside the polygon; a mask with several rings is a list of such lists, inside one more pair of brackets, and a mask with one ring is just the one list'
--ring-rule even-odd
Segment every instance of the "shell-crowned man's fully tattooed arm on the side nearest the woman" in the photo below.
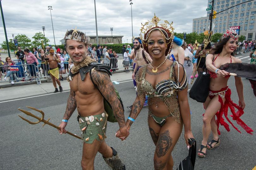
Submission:
{"label": "shell-crowned man's fully tattooed arm on the side nearest the woman", "polygon": [[104,71],[92,71],[93,82],[98,86],[104,98],[110,103],[114,116],[119,127],[125,127],[125,119],[122,105],[116,96],[115,88],[110,80],[110,76]]}

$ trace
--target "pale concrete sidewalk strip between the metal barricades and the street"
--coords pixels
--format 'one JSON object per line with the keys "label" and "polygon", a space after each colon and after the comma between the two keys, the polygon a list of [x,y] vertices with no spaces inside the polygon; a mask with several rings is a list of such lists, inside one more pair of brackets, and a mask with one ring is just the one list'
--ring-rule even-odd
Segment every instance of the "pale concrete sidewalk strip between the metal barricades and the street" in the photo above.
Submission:
{"label": "pale concrete sidewalk strip between the metal barricades and the street", "polygon": [[[112,82],[113,81],[116,81],[116,82],[130,81],[132,80],[132,71],[128,73],[125,73],[125,72],[114,73],[112,76],[110,76],[110,79]],[[52,82],[51,83],[43,82],[40,85],[35,84],[35,82],[30,82],[30,83],[33,83],[33,84],[26,83],[26,86],[20,85],[17,87],[12,86],[7,88],[0,88],[0,93],[3,94],[1,95],[0,101],[15,99],[15,98],[23,98],[27,96],[33,96],[33,95],[40,95],[45,93],[52,93],[54,91]],[[67,80],[61,81],[61,86],[63,87],[62,93],[70,90],[69,82]]]}

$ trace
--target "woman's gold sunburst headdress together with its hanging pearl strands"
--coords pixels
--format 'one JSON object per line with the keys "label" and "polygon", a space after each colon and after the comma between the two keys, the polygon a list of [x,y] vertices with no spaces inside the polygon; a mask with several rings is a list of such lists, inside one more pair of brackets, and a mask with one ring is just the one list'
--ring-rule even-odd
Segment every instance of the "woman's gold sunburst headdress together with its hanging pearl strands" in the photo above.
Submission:
{"label": "woman's gold sunburst headdress together with its hanging pearl strands", "polygon": [[[148,20],[147,22],[145,22],[145,24],[141,23],[142,27],[140,29],[140,38],[142,40],[142,43],[146,44],[147,46],[147,42],[150,34],[155,30],[159,30],[164,36],[165,40],[169,41],[168,43],[166,42],[166,44],[171,43],[171,46],[170,46],[170,49],[171,49],[173,38],[174,38],[174,28],[172,27],[172,24],[173,22],[169,23],[169,21],[167,20],[161,20],[156,16],[156,14],[154,14],[154,17],[152,18],[151,21]],[[168,35],[168,33],[163,28],[168,30],[170,32],[170,35]],[[145,36],[143,37],[142,34],[145,34],[146,32],[147,32],[146,37]],[[168,53],[170,53],[170,49]]]}

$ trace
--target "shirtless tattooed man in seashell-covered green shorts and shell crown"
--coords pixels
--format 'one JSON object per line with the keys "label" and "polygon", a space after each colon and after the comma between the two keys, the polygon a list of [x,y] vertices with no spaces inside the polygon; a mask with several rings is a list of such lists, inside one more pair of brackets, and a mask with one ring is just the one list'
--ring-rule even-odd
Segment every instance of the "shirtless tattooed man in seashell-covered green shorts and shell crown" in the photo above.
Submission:
{"label": "shirtless tattooed man in seashell-covered green shorts and shell crown", "polygon": [[123,140],[129,135],[122,104],[110,80],[110,66],[98,63],[87,55],[90,38],[85,33],[72,29],[66,32],[64,39],[74,66],[68,76],[70,94],[59,132],[66,133],[68,120],[77,109],[83,140],[82,169],[94,169],[94,159],[99,152],[112,169],[123,170],[125,165],[116,150],[105,142],[107,121],[110,118],[110,112],[107,113],[104,107],[105,101],[111,105],[119,124],[120,133],[116,137],[121,136]]}

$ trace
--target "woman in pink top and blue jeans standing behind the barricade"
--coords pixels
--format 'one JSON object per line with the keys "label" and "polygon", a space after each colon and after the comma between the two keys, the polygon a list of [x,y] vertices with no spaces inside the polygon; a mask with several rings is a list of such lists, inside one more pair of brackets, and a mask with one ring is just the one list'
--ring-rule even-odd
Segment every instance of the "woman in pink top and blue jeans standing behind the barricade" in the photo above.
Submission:
{"label": "woman in pink top and blue jeans standing behind the barricade", "polygon": [[[39,63],[38,63],[38,60],[36,58],[36,56],[34,54],[32,54],[30,52],[30,50],[28,48],[25,48],[24,49],[24,54],[26,56],[26,62],[28,65],[28,69],[29,69],[29,72],[30,72],[30,76],[31,78],[36,78],[36,72],[38,71],[37,66]],[[33,81],[33,79],[31,80]]]}

